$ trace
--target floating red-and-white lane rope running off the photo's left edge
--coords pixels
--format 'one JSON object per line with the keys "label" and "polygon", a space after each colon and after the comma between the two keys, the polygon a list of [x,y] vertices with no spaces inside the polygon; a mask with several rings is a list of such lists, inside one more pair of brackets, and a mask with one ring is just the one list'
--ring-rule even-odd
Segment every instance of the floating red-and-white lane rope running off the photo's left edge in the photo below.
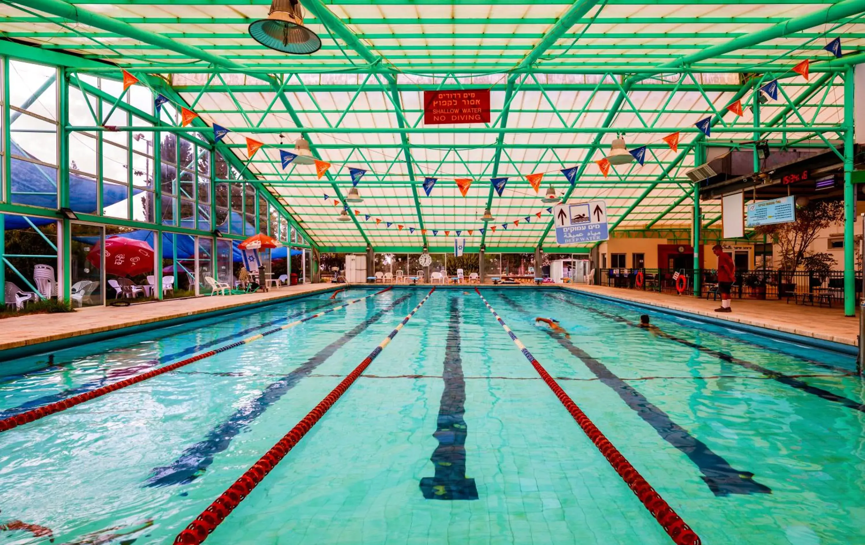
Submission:
{"label": "floating red-and-white lane rope running off the photo's left edge", "polygon": [[[388,289],[390,289],[390,288],[388,288]],[[30,409],[30,410],[25,411],[23,413],[16,414],[15,416],[10,416],[8,418],[0,420],[0,433],[8,432],[9,430],[16,428],[17,426],[29,424],[30,422],[32,422],[34,420],[40,420],[40,419],[48,416],[49,414],[60,413],[61,411],[65,411],[67,408],[75,407],[76,405],[80,405],[81,403],[84,403],[85,401],[90,401],[90,400],[95,399],[97,397],[102,397],[105,394],[110,394],[111,392],[119,390],[120,388],[126,388],[127,386],[131,386],[133,384],[138,384],[138,382],[151,379],[154,376],[163,375],[164,373],[168,373],[169,371],[173,371],[175,369],[180,369],[184,365],[189,365],[189,363],[198,362],[200,360],[203,360],[204,358],[207,358],[210,356],[215,356],[216,354],[219,354],[221,352],[225,352],[228,349],[237,348],[238,346],[252,343],[253,341],[256,341],[262,337],[267,337],[268,335],[272,335],[273,333],[277,333],[279,331],[291,329],[292,327],[299,325],[299,324],[303,324],[304,322],[307,322],[314,317],[324,316],[325,314],[328,314],[328,313],[333,312],[333,311],[338,311],[338,310],[343,309],[349,305],[354,305],[355,303],[357,303],[358,301],[362,301],[363,299],[374,297],[375,295],[378,295],[379,293],[387,292],[388,289],[381,290],[381,292],[372,293],[372,294],[367,295],[365,297],[356,299],[354,301],[350,301],[349,303],[346,303],[345,305],[336,306],[336,307],[329,309],[327,311],[317,312],[316,314],[313,314],[312,316],[305,317],[305,318],[300,319],[300,320],[295,320],[294,322],[292,322],[290,324],[285,324],[285,325],[279,326],[278,328],[275,328],[272,330],[266,330],[263,333],[259,333],[258,335],[253,335],[252,337],[247,337],[245,339],[241,339],[240,341],[226,344],[225,346],[222,346],[218,349],[213,349],[213,350],[208,350],[207,352],[202,352],[202,354],[199,354],[198,356],[192,356],[192,357],[186,358],[184,360],[181,360],[179,362],[174,362],[174,363],[171,363],[170,365],[160,367],[159,369],[151,369],[150,371],[147,371],[146,373],[142,373],[141,375],[131,376],[130,378],[127,378],[123,381],[112,382],[111,384],[108,384],[108,385],[103,386],[101,388],[95,388],[93,390],[85,392],[84,394],[74,395],[74,396],[68,397],[62,401],[55,401],[54,403],[49,403],[48,405],[45,405],[42,407],[37,407],[34,409]]]}

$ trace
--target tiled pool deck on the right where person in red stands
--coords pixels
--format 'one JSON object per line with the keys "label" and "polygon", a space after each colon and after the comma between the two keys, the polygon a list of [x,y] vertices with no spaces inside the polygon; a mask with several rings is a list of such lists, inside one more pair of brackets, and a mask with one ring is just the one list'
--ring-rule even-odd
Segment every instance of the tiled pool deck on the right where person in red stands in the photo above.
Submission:
{"label": "tiled pool deck on the right where person in red stands", "polygon": [[856,346],[859,320],[845,317],[843,308],[795,305],[785,301],[759,301],[756,299],[733,299],[733,312],[715,312],[721,301],[706,298],[677,296],[670,293],[643,292],[606,285],[567,285],[577,292],[596,293],[633,303],[653,305],[673,311],[689,312],[700,316],[719,318],[739,324],[754,325],[770,330],[794,333],[833,343]]}

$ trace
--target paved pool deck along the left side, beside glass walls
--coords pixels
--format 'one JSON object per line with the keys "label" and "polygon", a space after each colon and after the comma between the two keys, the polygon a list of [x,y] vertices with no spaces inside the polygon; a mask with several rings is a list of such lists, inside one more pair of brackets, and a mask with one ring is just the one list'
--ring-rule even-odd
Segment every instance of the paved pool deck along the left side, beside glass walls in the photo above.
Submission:
{"label": "paved pool deck along the left side, beside glass walls", "polygon": [[0,320],[0,351],[38,343],[62,341],[93,333],[153,324],[211,311],[240,310],[240,307],[334,289],[332,284],[304,284],[281,287],[270,292],[183,298],[130,306],[93,306],[61,314],[31,314]]}

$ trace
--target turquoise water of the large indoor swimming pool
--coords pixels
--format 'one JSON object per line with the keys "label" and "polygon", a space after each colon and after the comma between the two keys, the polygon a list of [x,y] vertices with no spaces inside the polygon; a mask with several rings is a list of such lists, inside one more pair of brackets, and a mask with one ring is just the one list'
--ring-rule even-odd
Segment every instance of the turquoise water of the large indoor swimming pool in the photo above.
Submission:
{"label": "turquoise water of the large indoor swimming pool", "polygon": [[[661,312],[644,330],[644,311],[574,292],[480,292],[351,288],[4,362],[0,420],[238,343],[0,433],[0,525],[173,542],[392,338],[208,543],[672,542],[486,302],[703,543],[865,542],[849,356]],[[0,536],[48,542],[33,528]]]}

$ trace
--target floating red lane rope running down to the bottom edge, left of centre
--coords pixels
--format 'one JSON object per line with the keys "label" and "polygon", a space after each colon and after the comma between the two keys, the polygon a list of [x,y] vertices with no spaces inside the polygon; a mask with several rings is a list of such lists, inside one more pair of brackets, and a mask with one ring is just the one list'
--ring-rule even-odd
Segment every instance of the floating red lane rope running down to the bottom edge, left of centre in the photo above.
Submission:
{"label": "floating red lane rope running down to the bottom edge, left of centre", "polygon": [[420,303],[418,303],[418,305],[408,313],[407,317],[402,318],[400,324],[397,324],[396,328],[388,334],[388,337],[385,337],[384,340],[382,340],[381,343],[379,343],[378,346],[369,353],[369,356],[364,358],[363,361],[343,379],[343,381],[336,385],[336,388],[333,388],[333,390],[330,391],[330,394],[327,394],[316,407],[306,414],[306,416],[292,427],[288,433],[285,433],[283,438],[279,439],[279,442],[277,442],[276,445],[272,446],[264,456],[259,458],[258,462],[245,471],[239,479],[234,481],[234,484],[228,487],[227,490],[222,492],[220,497],[217,497],[213,503],[210,503],[208,508],[202,511],[201,515],[197,516],[193,522],[189,523],[189,526],[187,526],[186,529],[183,529],[183,531],[176,536],[174,540],[175,544],[186,545],[194,543],[197,545],[198,543],[204,542],[204,540],[208,538],[208,535],[213,533],[216,527],[231,514],[234,508],[249,496],[249,493],[258,486],[262,479],[264,479],[267,474],[270,473],[270,471],[272,471],[272,469],[276,467],[283,458],[285,458],[285,455],[288,454],[288,452],[291,452],[292,448],[298,445],[300,439],[303,439],[304,435],[310,431],[312,426],[315,426],[318,420],[321,420],[324,414],[330,410],[330,407],[333,407],[334,403],[345,394],[346,390],[348,390],[357,380],[357,377],[369,367],[369,364],[372,363],[379,354],[381,354],[381,350],[388,346],[388,343],[396,337],[397,333],[399,333],[408,323],[408,320],[414,316],[414,313],[419,311],[420,307],[423,306],[432,296],[432,292],[435,292],[434,287],[426,294],[426,297],[421,299]]}

